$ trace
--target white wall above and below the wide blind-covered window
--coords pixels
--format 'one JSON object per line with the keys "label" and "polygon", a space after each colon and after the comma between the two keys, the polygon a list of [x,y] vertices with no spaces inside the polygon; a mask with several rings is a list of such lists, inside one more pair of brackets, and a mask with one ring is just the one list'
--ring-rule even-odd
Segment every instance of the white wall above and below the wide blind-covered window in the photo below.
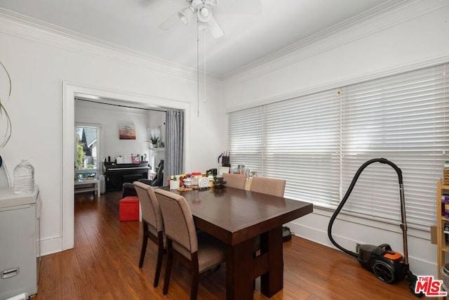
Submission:
{"label": "white wall above and below the wide blind-covered window", "polygon": [[[447,1],[407,1],[397,11],[363,20],[357,26],[307,42],[269,63],[242,70],[225,80],[225,111],[447,62],[448,4]],[[332,211],[315,207],[314,214],[289,225],[297,235],[333,247],[327,236],[331,214]],[[336,221],[333,228],[335,240],[343,247],[355,251],[356,242],[387,242],[396,251],[403,252],[399,226],[356,218],[346,220]],[[429,232],[409,228],[408,233],[411,270],[418,275],[436,275],[436,246],[429,242]]]}

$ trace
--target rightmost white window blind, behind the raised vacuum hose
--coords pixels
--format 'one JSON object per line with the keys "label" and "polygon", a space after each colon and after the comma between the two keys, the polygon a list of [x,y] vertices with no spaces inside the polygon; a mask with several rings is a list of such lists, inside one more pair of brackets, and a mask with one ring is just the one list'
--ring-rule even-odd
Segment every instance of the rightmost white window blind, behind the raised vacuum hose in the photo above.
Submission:
{"label": "rightmost white window blind, behind the raised vacuum hose", "polygon": [[[342,89],[343,189],[363,162],[384,157],[403,172],[408,223],[434,223],[435,183],[448,159],[447,86],[445,65],[439,65]],[[372,164],[344,209],[371,219],[400,220],[399,201],[394,169]]]}

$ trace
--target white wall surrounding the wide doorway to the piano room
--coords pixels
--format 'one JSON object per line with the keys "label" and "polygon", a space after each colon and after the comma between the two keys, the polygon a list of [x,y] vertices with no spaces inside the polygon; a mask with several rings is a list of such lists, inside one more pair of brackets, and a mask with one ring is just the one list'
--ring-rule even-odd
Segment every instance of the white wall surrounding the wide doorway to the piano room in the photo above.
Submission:
{"label": "white wall surrounding the wide doorway to the piano room", "polygon": [[[216,154],[225,145],[225,139],[216,134],[217,128],[222,131],[221,125],[214,122],[222,115],[221,94],[210,86],[208,102],[200,103],[197,117],[195,70],[183,70],[154,58],[89,44],[11,18],[3,11],[0,11],[0,28],[0,60],[13,84],[11,99],[4,103],[13,134],[11,141],[0,149],[0,155],[10,172],[22,158],[29,158],[34,165],[42,198],[43,254],[69,248],[70,242],[65,242],[63,233],[67,236],[67,232],[73,232],[73,222],[63,219],[63,211],[67,214],[72,209],[73,193],[62,190],[63,185],[67,188],[64,182],[73,179],[70,152],[67,155],[67,151],[73,155],[73,147],[67,150],[70,146],[62,148],[62,144],[65,136],[74,136],[73,131],[67,131],[65,123],[71,116],[74,122],[74,101],[72,95],[72,99],[62,103],[63,96],[67,95],[63,94],[67,84],[62,83],[71,83],[74,92],[86,89],[103,95],[124,95],[140,105],[185,107],[194,112],[186,119],[187,128],[192,129],[186,132],[189,137],[186,170],[206,171],[215,166]],[[63,165],[67,167],[63,169]]]}

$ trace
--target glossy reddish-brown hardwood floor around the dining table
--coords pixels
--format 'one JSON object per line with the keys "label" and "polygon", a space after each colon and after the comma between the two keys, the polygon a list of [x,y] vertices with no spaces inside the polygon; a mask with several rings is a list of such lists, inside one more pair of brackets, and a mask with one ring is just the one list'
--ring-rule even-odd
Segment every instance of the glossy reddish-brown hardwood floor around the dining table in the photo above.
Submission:
{"label": "glossy reddish-brown hardwood floor around the dining table", "polygon": [[[74,249],[43,256],[39,292],[34,299],[189,299],[189,273],[175,265],[167,296],[152,286],[156,247],[148,243],[138,268],[142,228],[138,221],[119,221],[121,193],[99,199],[75,198]],[[357,260],[301,237],[284,244],[284,287],[272,299],[415,299],[405,281],[381,282]],[[200,276],[199,299],[225,299],[226,266]],[[254,299],[260,294],[256,281]]]}

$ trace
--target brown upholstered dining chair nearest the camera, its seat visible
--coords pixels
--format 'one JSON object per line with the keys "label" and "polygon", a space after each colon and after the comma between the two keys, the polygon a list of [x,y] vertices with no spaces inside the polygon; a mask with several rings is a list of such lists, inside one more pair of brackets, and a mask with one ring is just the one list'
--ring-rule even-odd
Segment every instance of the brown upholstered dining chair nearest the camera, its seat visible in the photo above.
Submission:
{"label": "brown upholstered dining chair nearest the camera, its seat visible", "polygon": [[225,244],[215,237],[196,232],[192,211],[185,197],[156,189],[167,237],[166,274],[163,294],[168,293],[173,258],[189,268],[192,275],[190,299],[198,294],[199,274],[219,266],[226,259]]}

